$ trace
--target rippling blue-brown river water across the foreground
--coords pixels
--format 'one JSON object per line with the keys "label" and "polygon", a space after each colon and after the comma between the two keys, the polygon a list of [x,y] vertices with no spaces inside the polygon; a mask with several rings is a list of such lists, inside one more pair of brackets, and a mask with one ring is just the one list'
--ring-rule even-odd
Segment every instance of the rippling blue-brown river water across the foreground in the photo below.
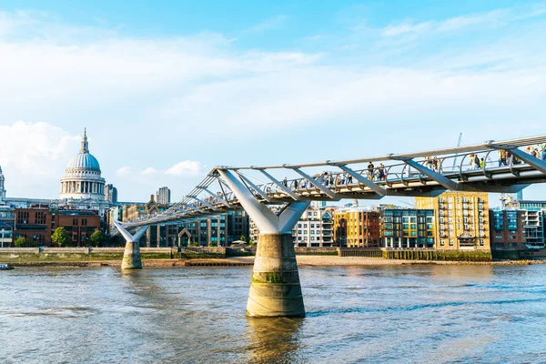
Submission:
{"label": "rippling blue-brown river water across the foreground", "polygon": [[306,319],[246,318],[249,267],[3,271],[0,362],[546,362],[546,265],[299,270]]}

